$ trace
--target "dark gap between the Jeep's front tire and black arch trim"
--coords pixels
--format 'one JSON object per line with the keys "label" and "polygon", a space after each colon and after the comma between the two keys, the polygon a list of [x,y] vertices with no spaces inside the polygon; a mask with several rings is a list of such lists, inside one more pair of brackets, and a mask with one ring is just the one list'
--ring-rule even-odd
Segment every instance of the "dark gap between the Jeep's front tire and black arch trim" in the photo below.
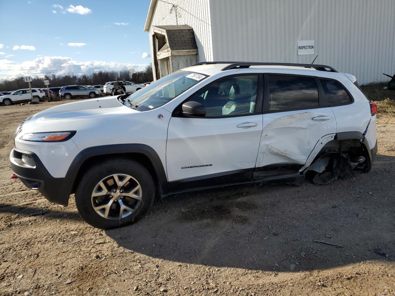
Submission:
{"label": "dark gap between the Jeep's front tire and black arch trim", "polygon": [[82,176],[87,172],[87,170],[92,167],[93,165],[96,165],[104,160],[109,160],[112,158],[117,158],[119,159],[120,157],[122,158],[127,158],[127,159],[133,159],[135,161],[138,161],[144,167],[149,171],[149,173],[152,176],[152,179],[154,180],[155,187],[156,187],[156,195],[159,193],[159,182],[158,182],[158,176],[156,174],[156,171],[154,169],[154,166],[152,165],[152,162],[150,161],[149,157],[145,154],[142,153],[117,153],[117,154],[105,154],[105,155],[96,155],[88,158],[83,162],[81,167],[78,170],[77,175],[75,176],[75,180],[73,183],[72,191],[71,193],[75,193],[77,186],[79,184],[79,181],[81,180]]}

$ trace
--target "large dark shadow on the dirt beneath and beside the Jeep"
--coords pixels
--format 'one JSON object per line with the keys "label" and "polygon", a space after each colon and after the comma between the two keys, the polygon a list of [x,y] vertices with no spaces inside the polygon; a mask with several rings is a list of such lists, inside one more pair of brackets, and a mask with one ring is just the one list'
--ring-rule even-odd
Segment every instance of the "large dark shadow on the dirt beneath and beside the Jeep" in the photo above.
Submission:
{"label": "large dark shadow on the dirt beneath and beside the Jeep", "polygon": [[154,258],[218,267],[290,271],[295,264],[298,272],[393,260],[395,157],[378,159],[369,174],[328,185],[167,197],[138,223],[106,233],[121,247]]}

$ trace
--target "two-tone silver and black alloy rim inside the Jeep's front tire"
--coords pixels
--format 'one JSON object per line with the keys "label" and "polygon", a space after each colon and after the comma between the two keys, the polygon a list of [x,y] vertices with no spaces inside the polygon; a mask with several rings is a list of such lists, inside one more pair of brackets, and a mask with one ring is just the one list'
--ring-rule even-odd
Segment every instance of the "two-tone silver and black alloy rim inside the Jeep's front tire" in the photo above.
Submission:
{"label": "two-tone silver and black alloy rim inside the Jeep's front tire", "polygon": [[96,214],[118,220],[131,215],[141,203],[141,185],[128,174],[109,175],[94,187],[91,195]]}

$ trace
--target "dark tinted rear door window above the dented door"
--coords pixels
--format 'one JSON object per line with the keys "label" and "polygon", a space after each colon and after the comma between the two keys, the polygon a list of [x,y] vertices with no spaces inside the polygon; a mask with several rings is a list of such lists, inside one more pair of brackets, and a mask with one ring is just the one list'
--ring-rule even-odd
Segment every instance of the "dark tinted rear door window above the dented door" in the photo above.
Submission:
{"label": "dark tinted rear door window above the dented door", "polygon": [[318,86],[314,78],[287,75],[268,77],[270,111],[318,108]]}

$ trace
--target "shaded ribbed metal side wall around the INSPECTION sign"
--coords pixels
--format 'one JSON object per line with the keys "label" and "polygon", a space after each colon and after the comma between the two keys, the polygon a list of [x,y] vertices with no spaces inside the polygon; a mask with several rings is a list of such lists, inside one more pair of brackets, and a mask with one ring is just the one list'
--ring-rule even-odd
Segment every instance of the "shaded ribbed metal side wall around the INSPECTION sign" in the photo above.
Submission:
{"label": "shaded ribbed metal side wall around the INSPECTION sign", "polygon": [[[179,2],[185,5],[188,1]],[[193,6],[201,1],[189,2]],[[204,2],[205,9],[210,9],[211,17],[204,17],[208,25],[198,26],[197,30],[196,24],[187,24],[201,34],[199,39],[207,43],[213,40],[212,48],[207,43],[201,46],[205,51],[209,49],[204,54],[206,60],[310,64],[318,54],[316,64],[351,73],[360,84],[384,81],[387,78],[382,73],[395,73],[395,0]],[[155,17],[164,16],[160,13]],[[163,21],[166,22],[162,24],[175,24],[166,18]],[[297,41],[310,39],[315,42],[314,55],[298,56]]]}

